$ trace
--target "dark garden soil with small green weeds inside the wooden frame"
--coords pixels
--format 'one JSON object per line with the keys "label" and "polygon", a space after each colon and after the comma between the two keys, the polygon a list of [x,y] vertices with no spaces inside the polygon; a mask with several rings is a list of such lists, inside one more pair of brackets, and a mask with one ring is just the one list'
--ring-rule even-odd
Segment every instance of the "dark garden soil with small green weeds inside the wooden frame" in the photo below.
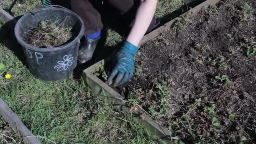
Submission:
{"label": "dark garden soil with small green weeds inside the wooden frame", "polygon": [[255,9],[224,0],[178,21],[140,48],[118,91],[186,143],[255,143]]}

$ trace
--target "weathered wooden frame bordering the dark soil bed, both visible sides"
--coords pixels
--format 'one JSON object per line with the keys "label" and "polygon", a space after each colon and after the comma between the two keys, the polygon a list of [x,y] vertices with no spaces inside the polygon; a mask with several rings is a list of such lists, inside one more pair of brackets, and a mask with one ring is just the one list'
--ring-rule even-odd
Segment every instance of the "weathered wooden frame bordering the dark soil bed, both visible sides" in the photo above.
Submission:
{"label": "weathered wooden frame bordering the dark soil bed, both visible sides", "polygon": [[[194,8],[190,9],[186,13],[181,14],[179,17],[169,21],[163,26],[145,35],[141,40],[140,45],[147,42],[148,40],[154,39],[161,32],[165,31],[165,29],[169,29],[174,24],[174,22],[181,20],[183,16],[187,14],[194,16],[202,8],[216,5],[216,3],[218,3],[219,1],[220,0],[206,0],[205,2],[195,6]],[[138,123],[144,128],[145,130],[144,132],[147,135],[153,136],[153,138],[160,139],[162,140],[163,143],[172,143],[171,133],[170,131],[168,131],[167,128],[163,127],[156,121],[152,120],[152,118],[149,115],[145,115],[145,114],[138,115],[139,113],[137,112],[137,109],[134,109],[134,107],[128,107],[128,105],[126,105],[127,101],[123,96],[121,96],[119,93],[113,90],[109,85],[101,81],[98,77],[93,75],[94,72],[99,70],[99,65],[101,64],[102,61],[104,60],[101,60],[96,64],[93,64],[91,67],[88,67],[83,71],[83,77],[86,83],[91,88],[93,88],[94,91],[96,91],[96,93],[99,94],[99,96],[101,96],[103,99],[107,99],[107,101],[109,101],[110,104],[114,104],[115,108],[118,108],[125,113],[134,114],[133,120],[135,120],[136,123]]]}

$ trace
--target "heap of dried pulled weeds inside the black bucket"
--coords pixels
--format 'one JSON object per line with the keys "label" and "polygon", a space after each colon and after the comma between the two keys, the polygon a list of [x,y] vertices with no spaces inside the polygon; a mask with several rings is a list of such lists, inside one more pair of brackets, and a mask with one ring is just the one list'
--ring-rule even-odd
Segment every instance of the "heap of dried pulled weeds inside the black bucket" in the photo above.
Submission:
{"label": "heap of dried pulled weeds inside the black bucket", "polygon": [[58,47],[72,40],[72,36],[72,27],[64,27],[58,21],[40,21],[23,35],[26,43],[40,48]]}

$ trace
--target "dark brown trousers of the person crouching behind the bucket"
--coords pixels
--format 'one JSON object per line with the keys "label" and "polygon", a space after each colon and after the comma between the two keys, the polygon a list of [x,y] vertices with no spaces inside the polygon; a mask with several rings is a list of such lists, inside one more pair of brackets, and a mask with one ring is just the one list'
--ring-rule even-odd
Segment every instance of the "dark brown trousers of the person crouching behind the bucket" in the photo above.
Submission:
{"label": "dark brown trousers of the person crouching behind the bucket", "polygon": [[[125,25],[132,27],[141,0],[71,0],[72,11],[77,13],[85,23],[85,35],[93,34],[103,28],[101,15],[93,5],[95,2],[109,3],[120,13]],[[155,23],[153,18],[147,32],[154,27]]]}

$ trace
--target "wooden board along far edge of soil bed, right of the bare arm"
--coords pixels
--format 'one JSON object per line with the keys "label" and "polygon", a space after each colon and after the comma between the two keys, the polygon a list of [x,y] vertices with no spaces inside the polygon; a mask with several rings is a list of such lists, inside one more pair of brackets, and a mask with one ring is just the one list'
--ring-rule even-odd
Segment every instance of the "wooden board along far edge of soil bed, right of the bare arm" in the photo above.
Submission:
{"label": "wooden board along far edge of soil bed, right of the bare arm", "polygon": [[191,14],[191,16],[194,16],[195,14],[197,14],[203,7],[209,7],[211,5],[216,5],[216,3],[219,3],[219,1],[221,0],[206,0],[205,2],[195,6],[194,8],[190,9],[189,11],[187,11],[186,13],[181,14],[180,16],[176,17],[175,19],[167,22],[166,24],[164,24],[161,27],[158,27],[157,29],[153,30],[152,32],[150,32],[149,34],[145,35],[140,44],[139,45],[143,45],[144,43],[146,43],[148,40],[152,40],[155,37],[157,37],[158,35],[160,35],[160,33],[164,32],[166,29],[169,29],[176,21],[181,20],[182,16],[187,15],[187,14]]}

